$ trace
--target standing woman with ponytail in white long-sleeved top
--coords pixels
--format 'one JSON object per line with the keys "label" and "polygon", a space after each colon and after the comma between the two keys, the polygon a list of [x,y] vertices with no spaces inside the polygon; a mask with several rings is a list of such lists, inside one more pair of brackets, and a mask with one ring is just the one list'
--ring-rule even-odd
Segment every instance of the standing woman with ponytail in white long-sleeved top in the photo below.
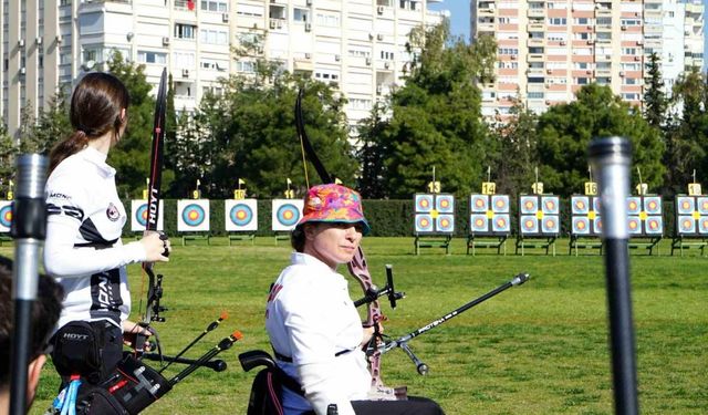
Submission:
{"label": "standing woman with ponytail in white long-sleeved top", "polygon": [[124,333],[126,338],[137,332],[149,335],[127,320],[131,294],[125,266],[167,261],[170,247],[156,232],[139,241],[121,241],[126,212],[115,187],[116,172],[106,158],[125,133],[127,107],[128,92],[117,77],[86,74],[71,98],[74,132],[50,154],[44,268],[64,288],[58,330],[71,322],[87,322],[100,351],[98,362],[53,355],[60,373],[62,364],[87,365],[105,377],[122,359]]}

